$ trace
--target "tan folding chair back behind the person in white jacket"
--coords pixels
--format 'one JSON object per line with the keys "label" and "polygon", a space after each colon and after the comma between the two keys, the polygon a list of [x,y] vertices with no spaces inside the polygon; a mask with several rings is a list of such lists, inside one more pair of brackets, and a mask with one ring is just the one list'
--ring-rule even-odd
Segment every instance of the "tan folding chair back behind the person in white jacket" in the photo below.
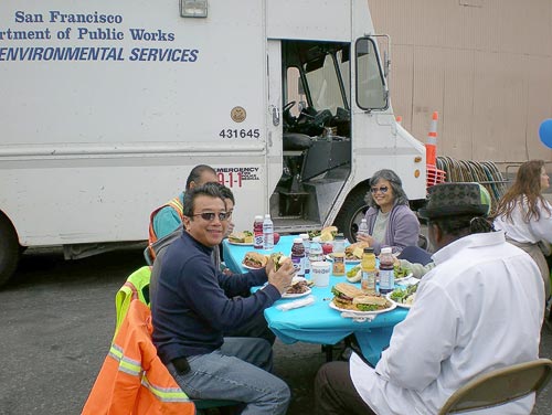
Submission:
{"label": "tan folding chair back behind the person in white jacket", "polygon": [[438,415],[484,409],[541,392],[552,376],[552,360],[538,359],[476,376],[458,389]]}

